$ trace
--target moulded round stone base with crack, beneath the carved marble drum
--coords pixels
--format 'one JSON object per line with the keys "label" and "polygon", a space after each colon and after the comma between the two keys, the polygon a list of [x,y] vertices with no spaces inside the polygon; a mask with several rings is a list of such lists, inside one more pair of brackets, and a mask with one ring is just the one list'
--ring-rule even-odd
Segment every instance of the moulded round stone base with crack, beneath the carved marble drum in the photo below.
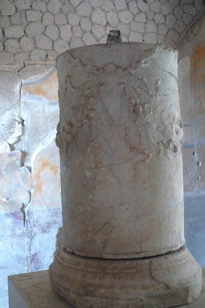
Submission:
{"label": "moulded round stone base with crack, beneath the carved marble drum", "polygon": [[80,257],[61,249],[49,267],[53,290],[76,308],[168,308],[199,297],[202,272],[186,247],[141,259]]}

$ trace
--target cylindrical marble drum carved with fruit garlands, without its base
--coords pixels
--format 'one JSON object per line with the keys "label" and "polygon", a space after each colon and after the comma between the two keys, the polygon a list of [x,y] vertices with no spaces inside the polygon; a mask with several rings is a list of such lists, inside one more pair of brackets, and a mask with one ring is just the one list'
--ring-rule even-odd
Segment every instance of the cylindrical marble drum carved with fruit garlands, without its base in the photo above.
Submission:
{"label": "cylindrical marble drum carved with fruit garlands, without its base", "polygon": [[88,257],[179,249],[182,123],[177,52],[139,43],[57,59],[64,245]]}

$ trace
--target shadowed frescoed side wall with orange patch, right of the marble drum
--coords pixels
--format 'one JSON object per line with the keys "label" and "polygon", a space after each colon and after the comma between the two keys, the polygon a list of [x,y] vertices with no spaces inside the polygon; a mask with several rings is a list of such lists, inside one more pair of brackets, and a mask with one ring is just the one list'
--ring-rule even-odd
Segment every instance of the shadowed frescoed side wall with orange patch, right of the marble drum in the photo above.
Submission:
{"label": "shadowed frescoed side wall with orange patch, right of the marble drum", "polygon": [[179,48],[186,245],[205,266],[205,18]]}

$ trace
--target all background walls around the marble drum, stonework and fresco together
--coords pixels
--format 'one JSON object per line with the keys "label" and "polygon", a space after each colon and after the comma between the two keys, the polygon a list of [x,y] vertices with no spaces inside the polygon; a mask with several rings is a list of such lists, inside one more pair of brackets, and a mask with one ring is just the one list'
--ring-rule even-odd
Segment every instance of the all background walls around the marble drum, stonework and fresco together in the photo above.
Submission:
{"label": "all background walls around the marble drum, stonework and fresco together", "polygon": [[[0,1],[0,307],[8,275],[48,268],[61,226],[56,56],[105,43],[111,28],[124,41],[174,45],[202,13],[201,0]],[[185,236],[205,265],[204,23],[193,31],[179,53]]]}

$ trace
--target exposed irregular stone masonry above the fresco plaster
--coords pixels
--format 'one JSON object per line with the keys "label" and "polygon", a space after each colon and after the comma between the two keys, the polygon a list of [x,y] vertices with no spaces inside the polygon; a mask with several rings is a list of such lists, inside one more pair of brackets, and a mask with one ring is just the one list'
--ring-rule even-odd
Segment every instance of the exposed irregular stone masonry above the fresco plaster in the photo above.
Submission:
{"label": "exposed irregular stone masonry above the fresco plaster", "polygon": [[53,60],[67,49],[124,42],[177,43],[202,12],[202,0],[4,0],[0,2],[0,64]]}

